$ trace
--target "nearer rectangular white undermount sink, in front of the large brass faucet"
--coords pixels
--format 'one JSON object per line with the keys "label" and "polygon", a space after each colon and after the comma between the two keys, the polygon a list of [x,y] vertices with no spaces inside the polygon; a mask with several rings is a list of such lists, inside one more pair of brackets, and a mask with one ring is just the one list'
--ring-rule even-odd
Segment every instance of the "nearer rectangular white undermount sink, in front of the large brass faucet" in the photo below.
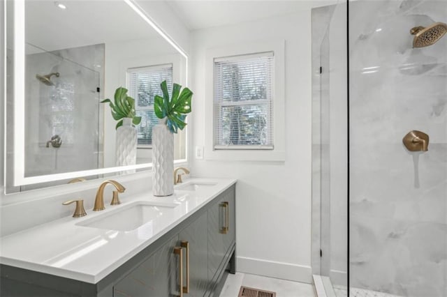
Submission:
{"label": "nearer rectangular white undermount sink, in front of the large brass faucet", "polygon": [[115,231],[132,231],[147,222],[161,217],[161,215],[173,212],[175,207],[177,207],[177,204],[154,204],[139,201],[122,206],[121,209],[113,213],[100,215],[97,218],[85,220],[77,225]]}

